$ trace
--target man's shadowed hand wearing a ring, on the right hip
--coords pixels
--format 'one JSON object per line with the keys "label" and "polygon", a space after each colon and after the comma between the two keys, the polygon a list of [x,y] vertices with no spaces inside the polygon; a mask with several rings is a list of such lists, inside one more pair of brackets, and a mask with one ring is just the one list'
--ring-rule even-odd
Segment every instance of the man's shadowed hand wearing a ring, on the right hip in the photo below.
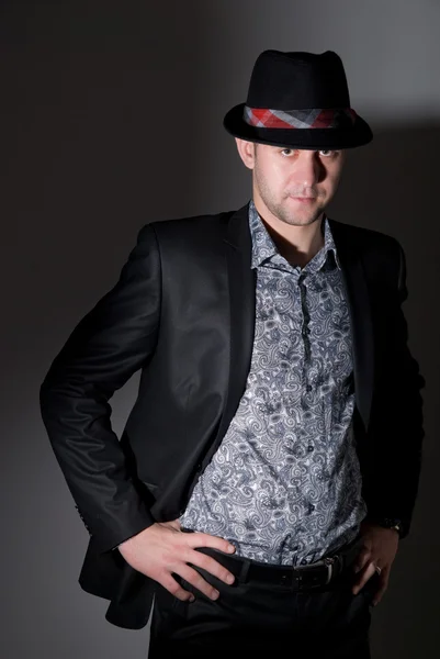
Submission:
{"label": "man's shadowed hand wearing a ring, on the right hip", "polygon": [[366,581],[376,572],[376,567],[380,568],[380,588],[372,601],[372,604],[375,605],[382,600],[388,587],[390,571],[397,554],[399,537],[395,529],[384,528],[370,522],[362,522],[361,536],[363,547],[353,566],[358,579],[352,592],[354,595],[358,594]]}

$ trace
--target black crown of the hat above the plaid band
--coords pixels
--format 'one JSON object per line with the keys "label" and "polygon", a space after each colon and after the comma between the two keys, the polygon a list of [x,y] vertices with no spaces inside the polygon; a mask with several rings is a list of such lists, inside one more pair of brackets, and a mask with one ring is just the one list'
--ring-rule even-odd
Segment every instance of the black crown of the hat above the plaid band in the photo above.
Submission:
{"label": "black crown of the hat above the plaid band", "polygon": [[342,60],[334,51],[264,51],[252,69],[247,105],[275,110],[350,108]]}

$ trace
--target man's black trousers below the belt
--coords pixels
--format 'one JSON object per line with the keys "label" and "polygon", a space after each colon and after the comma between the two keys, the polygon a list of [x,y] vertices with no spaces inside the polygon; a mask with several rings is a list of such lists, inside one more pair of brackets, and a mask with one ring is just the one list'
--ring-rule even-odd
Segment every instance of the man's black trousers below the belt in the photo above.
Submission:
{"label": "man's black trousers below the belt", "polygon": [[238,578],[228,585],[196,570],[219,591],[219,597],[212,601],[178,576],[183,588],[194,593],[194,602],[181,602],[158,584],[148,659],[275,659],[272,652],[290,659],[370,659],[376,576],[353,595],[352,570],[327,587],[308,591]]}

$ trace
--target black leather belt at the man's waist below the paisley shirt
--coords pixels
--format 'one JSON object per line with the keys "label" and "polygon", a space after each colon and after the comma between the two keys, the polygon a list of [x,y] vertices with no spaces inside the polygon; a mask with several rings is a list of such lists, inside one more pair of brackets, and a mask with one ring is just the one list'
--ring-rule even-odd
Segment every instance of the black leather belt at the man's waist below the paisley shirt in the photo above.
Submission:
{"label": "black leather belt at the man's waist below the paisley shirt", "polygon": [[[183,529],[189,532],[190,529]],[[347,572],[360,551],[360,537],[339,549],[336,554],[305,566],[279,566],[262,563],[240,556],[230,556],[211,547],[196,547],[196,551],[212,556],[240,582],[257,581],[273,585],[285,585],[292,590],[326,588]],[[191,563],[190,563],[191,565]],[[192,566],[195,569],[196,566]]]}

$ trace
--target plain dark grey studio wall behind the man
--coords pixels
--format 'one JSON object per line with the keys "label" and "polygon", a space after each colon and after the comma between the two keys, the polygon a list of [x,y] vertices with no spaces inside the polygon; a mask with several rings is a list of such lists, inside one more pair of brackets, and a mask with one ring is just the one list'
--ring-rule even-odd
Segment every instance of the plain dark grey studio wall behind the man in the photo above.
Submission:
{"label": "plain dark grey studio wall behind the man", "polygon": [[[427,437],[413,530],[373,613],[373,656],[437,655],[439,2],[65,0],[0,12],[2,656],[146,657],[148,629],[110,625],[106,601],[77,583],[88,535],[37,391],[145,222],[247,201],[249,172],[222,119],[266,48],[337,51],[352,107],[375,131],[350,153],[330,215],[406,250]],[[113,398],[116,432],[136,384]]]}

